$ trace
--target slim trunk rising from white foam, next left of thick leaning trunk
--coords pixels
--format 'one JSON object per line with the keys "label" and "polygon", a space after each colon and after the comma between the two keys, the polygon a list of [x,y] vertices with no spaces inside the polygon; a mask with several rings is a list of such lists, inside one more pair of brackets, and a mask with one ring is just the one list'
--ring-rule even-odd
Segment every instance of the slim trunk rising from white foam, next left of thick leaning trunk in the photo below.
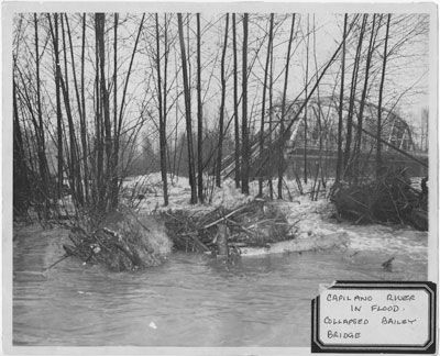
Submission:
{"label": "slim trunk rising from white foam, next left of thick leaning trunk", "polygon": [[164,112],[162,102],[162,78],[161,78],[161,36],[158,31],[158,14],[156,18],[156,70],[157,70],[157,101],[158,101],[158,134],[161,146],[161,173],[164,190],[164,205],[168,205],[168,182],[166,177],[166,127],[164,125]]}

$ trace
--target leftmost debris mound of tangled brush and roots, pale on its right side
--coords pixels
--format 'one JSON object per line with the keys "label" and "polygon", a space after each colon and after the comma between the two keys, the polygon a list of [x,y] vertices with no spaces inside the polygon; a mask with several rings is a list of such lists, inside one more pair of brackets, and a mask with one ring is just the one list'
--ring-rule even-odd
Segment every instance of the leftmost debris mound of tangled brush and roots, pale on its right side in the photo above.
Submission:
{"label": "leftmost debris mound of tangled brush and roots, pale on its right side", "polygon": [[66,255],[114,271],[158,266],[173,248],[161,221],[128,209],[111,213],[95,229],[70,227],[69,238],[73,244],[63,246]]}

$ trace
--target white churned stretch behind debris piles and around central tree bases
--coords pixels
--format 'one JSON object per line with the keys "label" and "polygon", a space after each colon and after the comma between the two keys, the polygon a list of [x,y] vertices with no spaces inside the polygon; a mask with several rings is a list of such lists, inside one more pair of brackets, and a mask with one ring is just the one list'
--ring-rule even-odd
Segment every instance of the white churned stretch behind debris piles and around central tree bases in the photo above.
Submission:
{"label": "white churned stretch behind debris piles and around central tree bases", "polygon": [[[207,180],[206,180],[207,181]],[[348,222],[338,222],[330,218],[334,207],[321,192],[318,201],[310,199],[310,193],[300,194],[296,181],[287,181],[284,188],[285,200],[275,203],[286,214],[287,221],[294,225],[293,232],[297,238],[308,238],[317,235],[328,235],[346,232],[350,236],[351,251],[386,251],[394,253],[408,253],[418,256],[427,254],[426,240],[428,233],[419,232],[413,227],[391,227],[380,224],[353,225]],[[308,185],[302,182],[302,191],[312,191],[314,181]],[[331,182],[327,183],[327,188]],[[276,196],[276,181],[274,180],[274,193]],[[161,174],[132,177],[124,182],[125,196],[134,197],[138,208],[144,212],[153,213],[161,210],[190,210],[193,212],[208,212],[218,207],[233,209],[244,202],[252,201],[258,191],[258,182],[250,182],[250,196],[241,193],[235,188],[233,179],[226,179],[222,188],[213,188],[208,198],[211,204],[191,205],[188,178],[168,177],[169,204],[163,205]],[[130,193],[128,193],[130,192]],[[142,194],[142,197],[139,197]],[[267,185],[264,194],[268,196]],[[142,198],[139,200],[138,198]],[[136,200],[138,199],[138,200]]]}

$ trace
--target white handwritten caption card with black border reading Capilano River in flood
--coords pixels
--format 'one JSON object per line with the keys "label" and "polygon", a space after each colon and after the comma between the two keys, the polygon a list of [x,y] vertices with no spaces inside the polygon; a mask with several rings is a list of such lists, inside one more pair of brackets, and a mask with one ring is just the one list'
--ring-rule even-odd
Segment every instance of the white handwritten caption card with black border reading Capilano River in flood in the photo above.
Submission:
{"label": "white handwritten caption card with black border reading Capilano River in flood", "polygon": [[312,303],[312,352],[428,353],[435,294],[430,282],[337,282]]}

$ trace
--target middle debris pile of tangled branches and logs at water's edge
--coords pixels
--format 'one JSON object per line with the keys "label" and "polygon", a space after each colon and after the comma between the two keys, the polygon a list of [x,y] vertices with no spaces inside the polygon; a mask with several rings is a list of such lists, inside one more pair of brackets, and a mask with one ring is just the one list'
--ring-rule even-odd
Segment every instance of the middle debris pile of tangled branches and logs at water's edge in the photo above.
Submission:
{"label": "middle debris pile of tangled branches and logs at water's edge", "polygon": [[268,243],[290,240],[292,226],[275,204],[255,199],[234,209],[218,208],[208,213],[187,210],[162,213],[176,249],[216,252],[216,237],[227,234],[235,247],[264,247]]}

